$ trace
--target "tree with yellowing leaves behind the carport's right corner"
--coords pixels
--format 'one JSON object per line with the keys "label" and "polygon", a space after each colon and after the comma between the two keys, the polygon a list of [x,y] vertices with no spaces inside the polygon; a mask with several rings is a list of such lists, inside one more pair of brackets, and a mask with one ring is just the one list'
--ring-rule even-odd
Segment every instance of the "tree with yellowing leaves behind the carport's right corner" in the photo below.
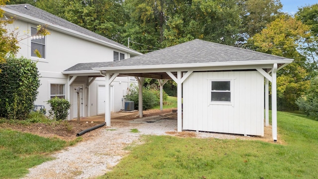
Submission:
{"label": "tree with yellowing leaves behind the carport's right corner", "polygon": [[295,100],[309,88],[306,57],[298,49],[311,37],[310,27],[296,18],[282,15],[260,33],[248,39],[249,49],[294,59],[294,63],[278,72],[277,94],[279,110],[295,110]]}

